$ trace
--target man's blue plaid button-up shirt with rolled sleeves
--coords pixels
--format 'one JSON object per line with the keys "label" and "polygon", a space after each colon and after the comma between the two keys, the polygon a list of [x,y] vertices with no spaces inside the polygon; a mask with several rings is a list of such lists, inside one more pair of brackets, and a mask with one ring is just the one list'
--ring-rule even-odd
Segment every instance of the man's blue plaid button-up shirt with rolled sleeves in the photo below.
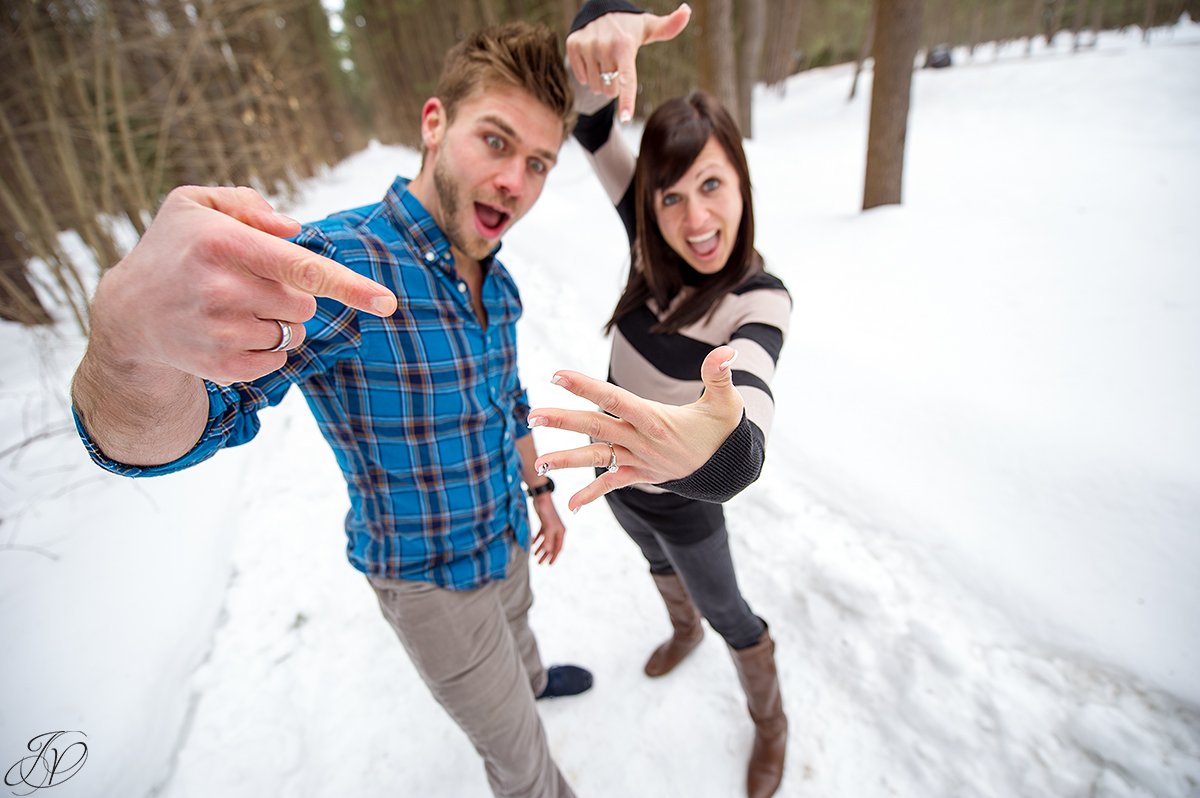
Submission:
{"label": "man's blue plaid button-up shirt with rolled sleeves", "polygon": [[504,577],[514,536],[529,546],[516,440],[529,433],[517,378],[521,298],[497,260],[486,264],[480,324],[450,242],[408,180],[382,203],[305,226],[296,242],[390,288],[390,318],[319,299],[305,342],[277,372],[222,388],[206,383],[209,422],[180,460],[127,476],[166,474],[246,443],[258,412],[300,385],[346,474],[350,563],[368,576],[467,589]]}

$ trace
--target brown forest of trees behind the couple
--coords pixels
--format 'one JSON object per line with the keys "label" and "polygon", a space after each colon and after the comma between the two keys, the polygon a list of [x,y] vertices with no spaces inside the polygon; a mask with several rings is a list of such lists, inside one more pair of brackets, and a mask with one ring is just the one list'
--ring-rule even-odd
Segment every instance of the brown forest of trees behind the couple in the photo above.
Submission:
{"label": "brown forest of trees behind the couple", "polygon": [[[337,0],[334,0],[335,2]],[[884,0],[888,2],[889,0]],[[902,0],[929,48],[1157,25],[1200,0]],[[0,12],[0,318],[88,329],[114,265],[181,184],[286,196],[370,139],[416,142],[445,50],[511,19],[565,34],[577,0],[17,0]],[[664,13],[673,0],[648,0]],[[637,113],[692,89],[752,136],[752,86],[871,53],[875,0],[692,0],[692,24],[641,58]],[[923,6],[923,8],[922,8]],[[1091,38],[1090,38],[1091,37]],[[857,72],[856,72],[857,76]],[[857,78],[856,78],[857,79]],[[852,91],[847,86],[847,91]],[[77,234],[94,264],[73,263]],[[34,268],[32,264],[44,265]],[[89,276],[90,275],[90,276]]]}

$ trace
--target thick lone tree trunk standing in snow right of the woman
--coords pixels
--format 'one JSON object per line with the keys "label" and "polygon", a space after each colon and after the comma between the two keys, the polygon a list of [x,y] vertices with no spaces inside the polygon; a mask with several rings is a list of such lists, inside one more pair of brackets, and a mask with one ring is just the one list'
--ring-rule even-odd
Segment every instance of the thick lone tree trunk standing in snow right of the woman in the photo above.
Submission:
{"label": "thick lone tree trunk standing in snow right of the woman", "polygon": [[900,204],[920,0],[878,0],[863,210]]}

